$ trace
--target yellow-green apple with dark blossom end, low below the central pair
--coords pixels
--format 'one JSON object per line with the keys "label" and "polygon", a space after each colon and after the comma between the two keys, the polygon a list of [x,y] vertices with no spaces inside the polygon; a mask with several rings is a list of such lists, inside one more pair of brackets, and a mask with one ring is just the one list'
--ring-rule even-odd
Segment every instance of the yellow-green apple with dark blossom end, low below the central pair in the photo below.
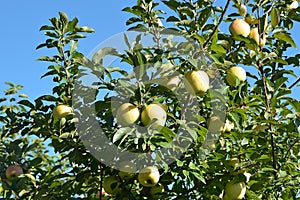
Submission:
{"label": "yellow-green apple with dark blossom end, low below the central pair", "polygon": [[148,166],[143,168],[138,175],[140,184],[145,187],[155,186],[158,183],[159,178],[160,174],[157,167],[155,166]]}

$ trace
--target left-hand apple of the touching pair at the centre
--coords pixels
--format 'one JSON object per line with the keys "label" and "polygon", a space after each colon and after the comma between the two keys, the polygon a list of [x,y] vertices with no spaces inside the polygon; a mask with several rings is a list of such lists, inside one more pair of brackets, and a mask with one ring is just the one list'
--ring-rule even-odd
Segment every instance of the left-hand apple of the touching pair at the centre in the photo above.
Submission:
{"label": "left-hand apple of the touching pair at the centre", "polygon": [[116,117],[120,125],[129,126],[139,119],[140,111],[135,105],[124,103],[118,108]]}

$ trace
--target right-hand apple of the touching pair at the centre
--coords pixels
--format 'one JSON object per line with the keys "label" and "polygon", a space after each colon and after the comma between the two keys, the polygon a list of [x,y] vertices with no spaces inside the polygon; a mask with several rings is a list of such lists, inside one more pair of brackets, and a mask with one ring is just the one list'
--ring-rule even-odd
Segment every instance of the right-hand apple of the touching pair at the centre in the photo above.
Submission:
{"label": "right-hand apple of the touching pair at the centre", "polygon": [[167,120],[167,112],[159,103],[152,103],[142,111],[141,120],[145,126],[151,124],[152,128],[164,126]]}

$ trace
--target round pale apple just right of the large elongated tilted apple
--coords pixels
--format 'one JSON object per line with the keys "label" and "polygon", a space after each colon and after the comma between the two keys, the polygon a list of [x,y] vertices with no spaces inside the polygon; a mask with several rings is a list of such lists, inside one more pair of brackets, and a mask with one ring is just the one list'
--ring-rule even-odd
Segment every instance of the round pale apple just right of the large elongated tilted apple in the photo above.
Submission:
{"label": "round pale apple just right of the large elongated tilted apple", "polygon": [[226,80],[229,85],[237,86],[237,80],[239,80],[239,82],[246,80],[246,71],[242,67],[231,67],[227,70]]}

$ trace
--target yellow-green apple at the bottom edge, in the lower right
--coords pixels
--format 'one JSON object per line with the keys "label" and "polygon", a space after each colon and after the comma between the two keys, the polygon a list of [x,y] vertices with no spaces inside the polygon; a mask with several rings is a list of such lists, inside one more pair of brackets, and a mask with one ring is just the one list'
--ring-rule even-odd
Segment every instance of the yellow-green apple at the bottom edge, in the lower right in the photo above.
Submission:
{"label": "yellow-green apple at the bottom edge, in the lower right", "polygon": [[228,200],[243,199],[245,194],[246,194],[246,184],[244,182],[235,183],[234,181],[230,181],[225,186],[225,196],[226,199]]}

